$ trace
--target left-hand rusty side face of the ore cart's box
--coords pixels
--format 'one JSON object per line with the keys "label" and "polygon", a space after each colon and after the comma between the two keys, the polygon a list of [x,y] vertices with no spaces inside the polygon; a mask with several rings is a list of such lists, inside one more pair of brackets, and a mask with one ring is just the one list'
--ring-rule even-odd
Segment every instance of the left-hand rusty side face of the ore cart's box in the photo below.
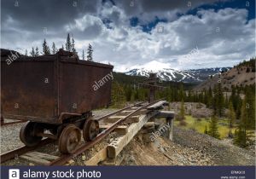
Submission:
{"label": "left-hand rusty side face of the ore cart's box", "polygon": [[[53,118],[55,115],[53,61],[1,61],[3,118],[23,116]],[[48,78],[49,83],[44,83]]]}

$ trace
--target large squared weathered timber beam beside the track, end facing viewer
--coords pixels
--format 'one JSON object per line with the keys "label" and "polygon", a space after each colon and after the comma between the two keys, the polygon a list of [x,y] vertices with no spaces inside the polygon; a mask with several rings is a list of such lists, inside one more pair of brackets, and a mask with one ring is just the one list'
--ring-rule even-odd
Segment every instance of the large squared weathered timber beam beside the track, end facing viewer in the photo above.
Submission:
{"label": "large squared weathered timber beam beside the track, end facing viewer", "polygon": [[119,136],[110,144],[108,144],[108,158],[115,158],[122,151],[122,149],[131,141],[131,139],[137,134],[137,132],[143,128],[143,125],[148,122],[148,119],[154,117],[156,113],[157,112],[152,112],[142,115],[139,118],[138,123],[131,124],[128,127],[128,132],[125,136]]}

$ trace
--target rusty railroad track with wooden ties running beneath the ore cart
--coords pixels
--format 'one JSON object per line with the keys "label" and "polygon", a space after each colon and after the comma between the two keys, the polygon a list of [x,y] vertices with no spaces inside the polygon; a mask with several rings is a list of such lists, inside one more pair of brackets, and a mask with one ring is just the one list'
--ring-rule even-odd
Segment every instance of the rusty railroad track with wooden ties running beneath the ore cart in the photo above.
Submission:
{"label": "rusty railroad track with wooden ties running beneath the ore cart", "polygon": [[[160,100],[158,100],[158,101],[160,101]],[[111,124],[107,129],[102,130],[102,132],[98,136],[96,136],[96,138],[93,139],[92,141],[80,144],[79,147],[77,147],[77,149],[72,154],[61,154],[61,156],[53,156],[53,155],[49,155],[47,153],[38,153],[37,152],[38,147],[44,147],[46,144],[49,144],[54,141],[51,139],[45,139],[45,140],[41,141],[35,147],[20,147],[15,150],[9,151],[8,153],[3,153],[0,156],[1,164],[10,159],[15,159],[18,156],[20,156],[20,158],[22,158],[22,159],[28,159],[34,163],[38,163],[39,165],[65,165],[65,164],[67,164],[67,162],[69,160],[75,158],[76,156],[78,156],[81,153],[84,153],[85,150],[89,149],[90,147],[93,147],[96,143],[102,141],[102,139],[104,139],[113,130],[115,130],[119,126],[119,124],[124,123],[127,118],[131,118],[135,114],[141,112],[144,108],[151,106],[158,101],[154,101],[154,102],[151,102],[148,104],[145,104],[144,102],[140,102],[140,103],[137,103],[130,107],[125,107],[125,108],[119,109],[116,112],[109,113],[100,118],[96,118],[96,120],[102,121],[104,119],[111,118],[111,117],[113,117],[119,113],[122,113],[122,112],[127,112],[127,111],[131,112],[131,113],[128,113],[127,115],[125,115],[124,117],[119,118],[116,122],[113,122],[113,124]],[[44,159],[43,158],[37,159],[38,156],[40,156],[40,155]],[[45,160],[45,158],[49,159],[49,160]]]}

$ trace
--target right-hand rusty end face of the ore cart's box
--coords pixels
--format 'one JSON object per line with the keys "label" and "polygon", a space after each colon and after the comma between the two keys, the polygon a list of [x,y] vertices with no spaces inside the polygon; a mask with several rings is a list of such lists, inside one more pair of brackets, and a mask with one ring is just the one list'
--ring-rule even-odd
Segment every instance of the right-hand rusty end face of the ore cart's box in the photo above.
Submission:
{"label": "right-hand rusty end face of the ore cart's box", "polygon": [[98,90],[93,85],[111,72],[110,68],[61,62],[60,72],[60,112],[85,113],[109,104],[111,80]]}

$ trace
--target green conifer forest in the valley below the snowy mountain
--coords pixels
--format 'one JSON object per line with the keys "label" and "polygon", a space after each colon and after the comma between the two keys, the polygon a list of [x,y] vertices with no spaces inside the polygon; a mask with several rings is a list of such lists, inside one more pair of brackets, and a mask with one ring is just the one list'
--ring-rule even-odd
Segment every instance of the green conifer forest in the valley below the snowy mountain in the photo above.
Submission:
{"label": "green conifer forest in the valley below the snowy mountain", "polygon": [[[114,107],[122,107],[125,102],[148,100],[148,90],[139,88],[135,83],[125,83],[125,80],[122,80],[116,73],[114,73],[114,78],[115,76],[118,80],[113,81],[112,102]],[[234,143],[239,147],[247,147],[250,143],[251,130],[255,128],[255,84],[233,85],[230,96],[228,96],[227,93],[224,93],[221,83],[214,85],[213,89],[202,91],[184,90],[184,84],[177,83],[157,91],[155,97],[156,99],[166,98],[170,102],[181,101],[181,110],[176,118],[182,125],[185,124],[184,102],[206,104],[213,113],[205,133],[219,138],[218,121],[225,117],[229,119],[230,136],[233,136]],[[228,113],[224,113],[226,109],[229,109]],[[231,129],[234,127],[236,127],[235,134],[231,134]]]}

